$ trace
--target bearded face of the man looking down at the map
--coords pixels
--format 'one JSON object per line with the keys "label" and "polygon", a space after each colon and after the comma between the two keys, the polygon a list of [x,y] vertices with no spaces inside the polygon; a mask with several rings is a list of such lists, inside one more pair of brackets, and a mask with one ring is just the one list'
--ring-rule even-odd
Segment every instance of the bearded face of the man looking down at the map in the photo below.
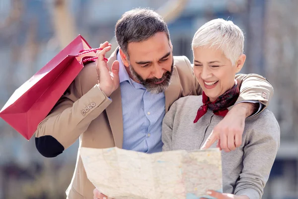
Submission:
{"label": "bearded face of the man looking down at the map", "polygon": [[173,72],[172,47],[164,32],[158,32],[146,41],[128,44],[127,57],[122,60],[131,78],[152,94],[162,93],[170,84]]}

